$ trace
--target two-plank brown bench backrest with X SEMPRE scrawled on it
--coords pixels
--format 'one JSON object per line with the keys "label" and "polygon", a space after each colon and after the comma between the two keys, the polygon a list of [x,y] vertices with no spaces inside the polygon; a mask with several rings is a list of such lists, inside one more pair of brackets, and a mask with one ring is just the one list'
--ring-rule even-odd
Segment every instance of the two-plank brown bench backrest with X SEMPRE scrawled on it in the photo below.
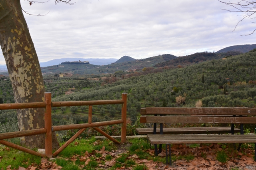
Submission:
{"label": "two-plank brown bench backrest with X SEMPRE scrawled on it", "polygon": [[140,123],[256,123],[256,117],[247,117],[256,109],[248,107],[146,107],[140,114],[145,115]]}

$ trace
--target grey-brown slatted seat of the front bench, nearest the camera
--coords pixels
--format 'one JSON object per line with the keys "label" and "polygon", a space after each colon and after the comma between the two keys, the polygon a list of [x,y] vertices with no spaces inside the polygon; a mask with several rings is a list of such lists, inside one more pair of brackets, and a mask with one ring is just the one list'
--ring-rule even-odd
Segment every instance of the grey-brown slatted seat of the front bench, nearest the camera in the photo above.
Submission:
{"label": "grey-brown slatted seat of the front bench, nearest the camera", "polygon": [[151,144],[256,143],[256,135],[147,135]]}

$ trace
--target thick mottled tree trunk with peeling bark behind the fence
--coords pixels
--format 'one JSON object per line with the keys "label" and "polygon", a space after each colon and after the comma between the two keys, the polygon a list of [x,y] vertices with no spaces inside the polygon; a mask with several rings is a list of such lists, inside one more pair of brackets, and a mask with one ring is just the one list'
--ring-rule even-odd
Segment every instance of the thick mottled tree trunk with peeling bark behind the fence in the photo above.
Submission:
{"label": "thick mottled tree trunk with peeling bark behind the fence", "polygon": [[[0,44],[16,103],[44,102],[44,81],[20,0],[0,0]],[[20,131],[44,127],[44,108],[17,109]],[[53,148],[59,144],[53,135]],[[29,147],[44,148],[44,135],[22,138]]]}

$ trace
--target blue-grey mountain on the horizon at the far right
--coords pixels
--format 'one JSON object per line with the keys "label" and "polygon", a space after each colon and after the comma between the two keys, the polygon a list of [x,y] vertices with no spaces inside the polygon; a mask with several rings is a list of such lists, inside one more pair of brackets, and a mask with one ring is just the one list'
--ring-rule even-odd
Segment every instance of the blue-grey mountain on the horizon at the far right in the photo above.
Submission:
{"label": "blue-grey mountain on the horizon at the far right", "polygon": [[239,51],[241,53],[247,53],[256,48],[256,44],[246,44],[246,45],[233,45],[230,47],[226,47],[217,51],[216,53],[226,53],[228,51]]}

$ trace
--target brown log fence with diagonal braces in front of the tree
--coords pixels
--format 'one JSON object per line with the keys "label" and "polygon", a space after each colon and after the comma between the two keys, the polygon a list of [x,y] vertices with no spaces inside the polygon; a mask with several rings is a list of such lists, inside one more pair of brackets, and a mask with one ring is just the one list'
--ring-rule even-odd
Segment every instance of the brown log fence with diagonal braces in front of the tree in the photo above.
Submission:
{"label": "brown log fence with diagonal braces in front of the tree", "polygon": [[[25,109],[25,108],[38,108],[45,107],[46,111],[44,113],[44,128],[32,129],[27,131],[18,131],[10,133],[0,133],[0,144],[12,147],[14,149],[27,152],[41,157],[52,158],[52,156],[57,156],[63,149],[65,149],[72,141],[74,141],[86,128],[92,127],[94,130],[98,131],[111,141],[119,143],[116,139],[112,138],[110,135],[102,131],[99,126],[107,126],[122,123],[121,129],[121,142],[126,143],[126,104],[127,104],[127,94],[122,93],[121,100],[98,100],[98,101],[76,101],[76,102],[52,102],[51,93],[44,93],[45,102],[35,102],[35,103],[17,103],[17,104],[0,104],[0,110],[5,109]],[[93,105],[105,105],[105,104],[122,104],[122,118],[112,121],[103,121],[92,123],[92,106]],[[60,125],[52,126],[52,107],[62,107],[62,106],[89,106],[88,111],[88,123],[74,124],[74,125]],[[64,145],[62,145],[58,150],[52,154],[52,132],[63,131],[70,129],[80,129],[72,138],[70,138]],[[30,150],[19,145],[4,141],[3,139],[11,139],[15,137],[24,137],[30,135],[46,134],[45,136],[45,154]]]}

